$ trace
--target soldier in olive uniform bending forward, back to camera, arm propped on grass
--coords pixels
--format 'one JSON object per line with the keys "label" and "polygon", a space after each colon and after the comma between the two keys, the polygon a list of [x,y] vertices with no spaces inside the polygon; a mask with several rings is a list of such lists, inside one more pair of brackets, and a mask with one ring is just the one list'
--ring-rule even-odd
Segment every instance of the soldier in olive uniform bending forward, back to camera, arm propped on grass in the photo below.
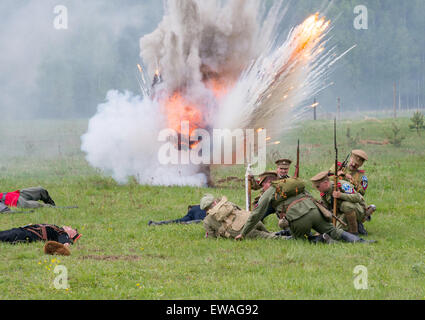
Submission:
{"label": "soldier in olive uniform bending forward, back to camera, arm propped on grass", "polygon": [[261,197],[257,208],[251,212],[241,233],[235,238],[245,238],[261,220],[261,217],[272,205],[280,213],[280,225],[289,225],[291,234],[296,239],[309,239],[311,229],[323,236],[324,242],[330,238],[347,242],[365,242],[365,240],[338,229],[330,222],[331,217],[326,209],[320,207],[305,190],[304,182],[298,178],[277,180]]}

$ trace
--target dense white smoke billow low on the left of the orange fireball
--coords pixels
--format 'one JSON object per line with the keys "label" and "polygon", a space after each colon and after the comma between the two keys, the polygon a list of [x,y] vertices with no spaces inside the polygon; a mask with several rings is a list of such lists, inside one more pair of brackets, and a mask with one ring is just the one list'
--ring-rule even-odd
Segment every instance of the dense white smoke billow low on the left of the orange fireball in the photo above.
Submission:
{"label": "dense white smoke billow low on the left of the orange fireball", "polygon": [[205,176],[188,166],[161,166],[158,135],[161,117],[158,104],[130,92],[109,91],[82,136],[87,161],[120,183],[134,176],[141,184],[206,184]]}

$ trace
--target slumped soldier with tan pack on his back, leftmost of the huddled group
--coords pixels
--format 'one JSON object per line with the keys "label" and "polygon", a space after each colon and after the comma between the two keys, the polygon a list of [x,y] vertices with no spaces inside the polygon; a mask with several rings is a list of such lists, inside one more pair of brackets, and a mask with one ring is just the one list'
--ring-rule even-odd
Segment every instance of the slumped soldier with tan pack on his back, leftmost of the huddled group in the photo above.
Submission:
{"label": "slumped soldier with tan pack on his back, leftmost of the huddled group", "polygon": [[[201,199],[201,209],[207,212],[204,228],[207,238],[235,238],[249,218],[249,212],[241,210],[226,197],[216,199],[208,194]],[[263,223],[258,221],[247,238],[279,239],[282,238],[269,232]]]}

